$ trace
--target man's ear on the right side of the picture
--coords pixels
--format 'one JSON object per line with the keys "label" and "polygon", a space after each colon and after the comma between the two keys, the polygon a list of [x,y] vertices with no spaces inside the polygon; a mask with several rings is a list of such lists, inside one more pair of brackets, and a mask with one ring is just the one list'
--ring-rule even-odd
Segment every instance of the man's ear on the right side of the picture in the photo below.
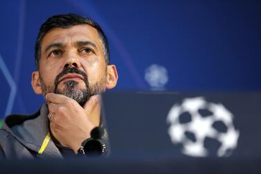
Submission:
{"label": "man's ear on the right side of the picture", "polygon": [[107,89],[112,89],[118,81],[118,72],[114,64],[107,65]]}

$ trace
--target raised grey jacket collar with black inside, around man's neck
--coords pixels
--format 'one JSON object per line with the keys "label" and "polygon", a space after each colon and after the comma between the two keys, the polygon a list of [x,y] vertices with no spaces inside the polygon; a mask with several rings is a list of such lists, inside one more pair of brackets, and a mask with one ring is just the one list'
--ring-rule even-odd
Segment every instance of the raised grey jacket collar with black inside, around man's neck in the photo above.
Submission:
{"label": "raised grey jacket collar with black inside, around man's neck", "polygon": [[[16,124],[15,122],[21,122]],[[3,129],[12,134],[26,148],[36,153],[42,146],[46,134],[49,132],[48,107],[46,103],[33,115],[10,115],[3,123]],[[50,139],[48,146],[39,158],[62,158],[60,150]]]}

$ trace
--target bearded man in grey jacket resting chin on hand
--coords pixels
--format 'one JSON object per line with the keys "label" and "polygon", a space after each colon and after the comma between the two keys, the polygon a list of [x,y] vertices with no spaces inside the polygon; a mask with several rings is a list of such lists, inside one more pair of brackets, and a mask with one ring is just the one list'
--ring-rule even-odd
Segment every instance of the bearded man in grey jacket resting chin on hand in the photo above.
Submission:
{"label": "bearded man in grey jacket resting chin on hand", "polygon": [[35,44],[32,87],[46,99],[33,115],[7,116],[0,156],[12,158],[103,155],[108,151],[100,95],[116,86],[107,38],[79,15],[55,15],[42,24]]}

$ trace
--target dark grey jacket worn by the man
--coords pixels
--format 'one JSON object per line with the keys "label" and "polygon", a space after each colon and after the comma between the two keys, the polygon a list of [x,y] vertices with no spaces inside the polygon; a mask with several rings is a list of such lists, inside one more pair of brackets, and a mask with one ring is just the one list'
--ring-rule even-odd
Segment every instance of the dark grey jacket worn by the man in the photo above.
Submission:
{"label": "dark grey jacket worn by the man", "polygon": [[[38,151],[49,131],[48,107],[42,105],[40,110],[32,115],[12,114],[7,116],[0,129],[0,158],[35,159],[63,158],[60,150],[51,139],[42,155]],[[102,124],[102,118],[101,118]],[[102,136],[107,146],[107,132]]]}

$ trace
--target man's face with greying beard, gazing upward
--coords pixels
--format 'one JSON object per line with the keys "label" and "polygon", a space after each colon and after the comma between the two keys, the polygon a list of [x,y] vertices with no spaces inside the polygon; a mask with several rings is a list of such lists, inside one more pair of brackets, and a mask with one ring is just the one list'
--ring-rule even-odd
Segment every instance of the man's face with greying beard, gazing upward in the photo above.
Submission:
{"label": "man's face with greying beard, gazing upward", "polygon": [[95,28],[83,24],[54,28],[42,40],[39,62],[42,94],[64,94],[80,105],[104,92],[107,65]]}

